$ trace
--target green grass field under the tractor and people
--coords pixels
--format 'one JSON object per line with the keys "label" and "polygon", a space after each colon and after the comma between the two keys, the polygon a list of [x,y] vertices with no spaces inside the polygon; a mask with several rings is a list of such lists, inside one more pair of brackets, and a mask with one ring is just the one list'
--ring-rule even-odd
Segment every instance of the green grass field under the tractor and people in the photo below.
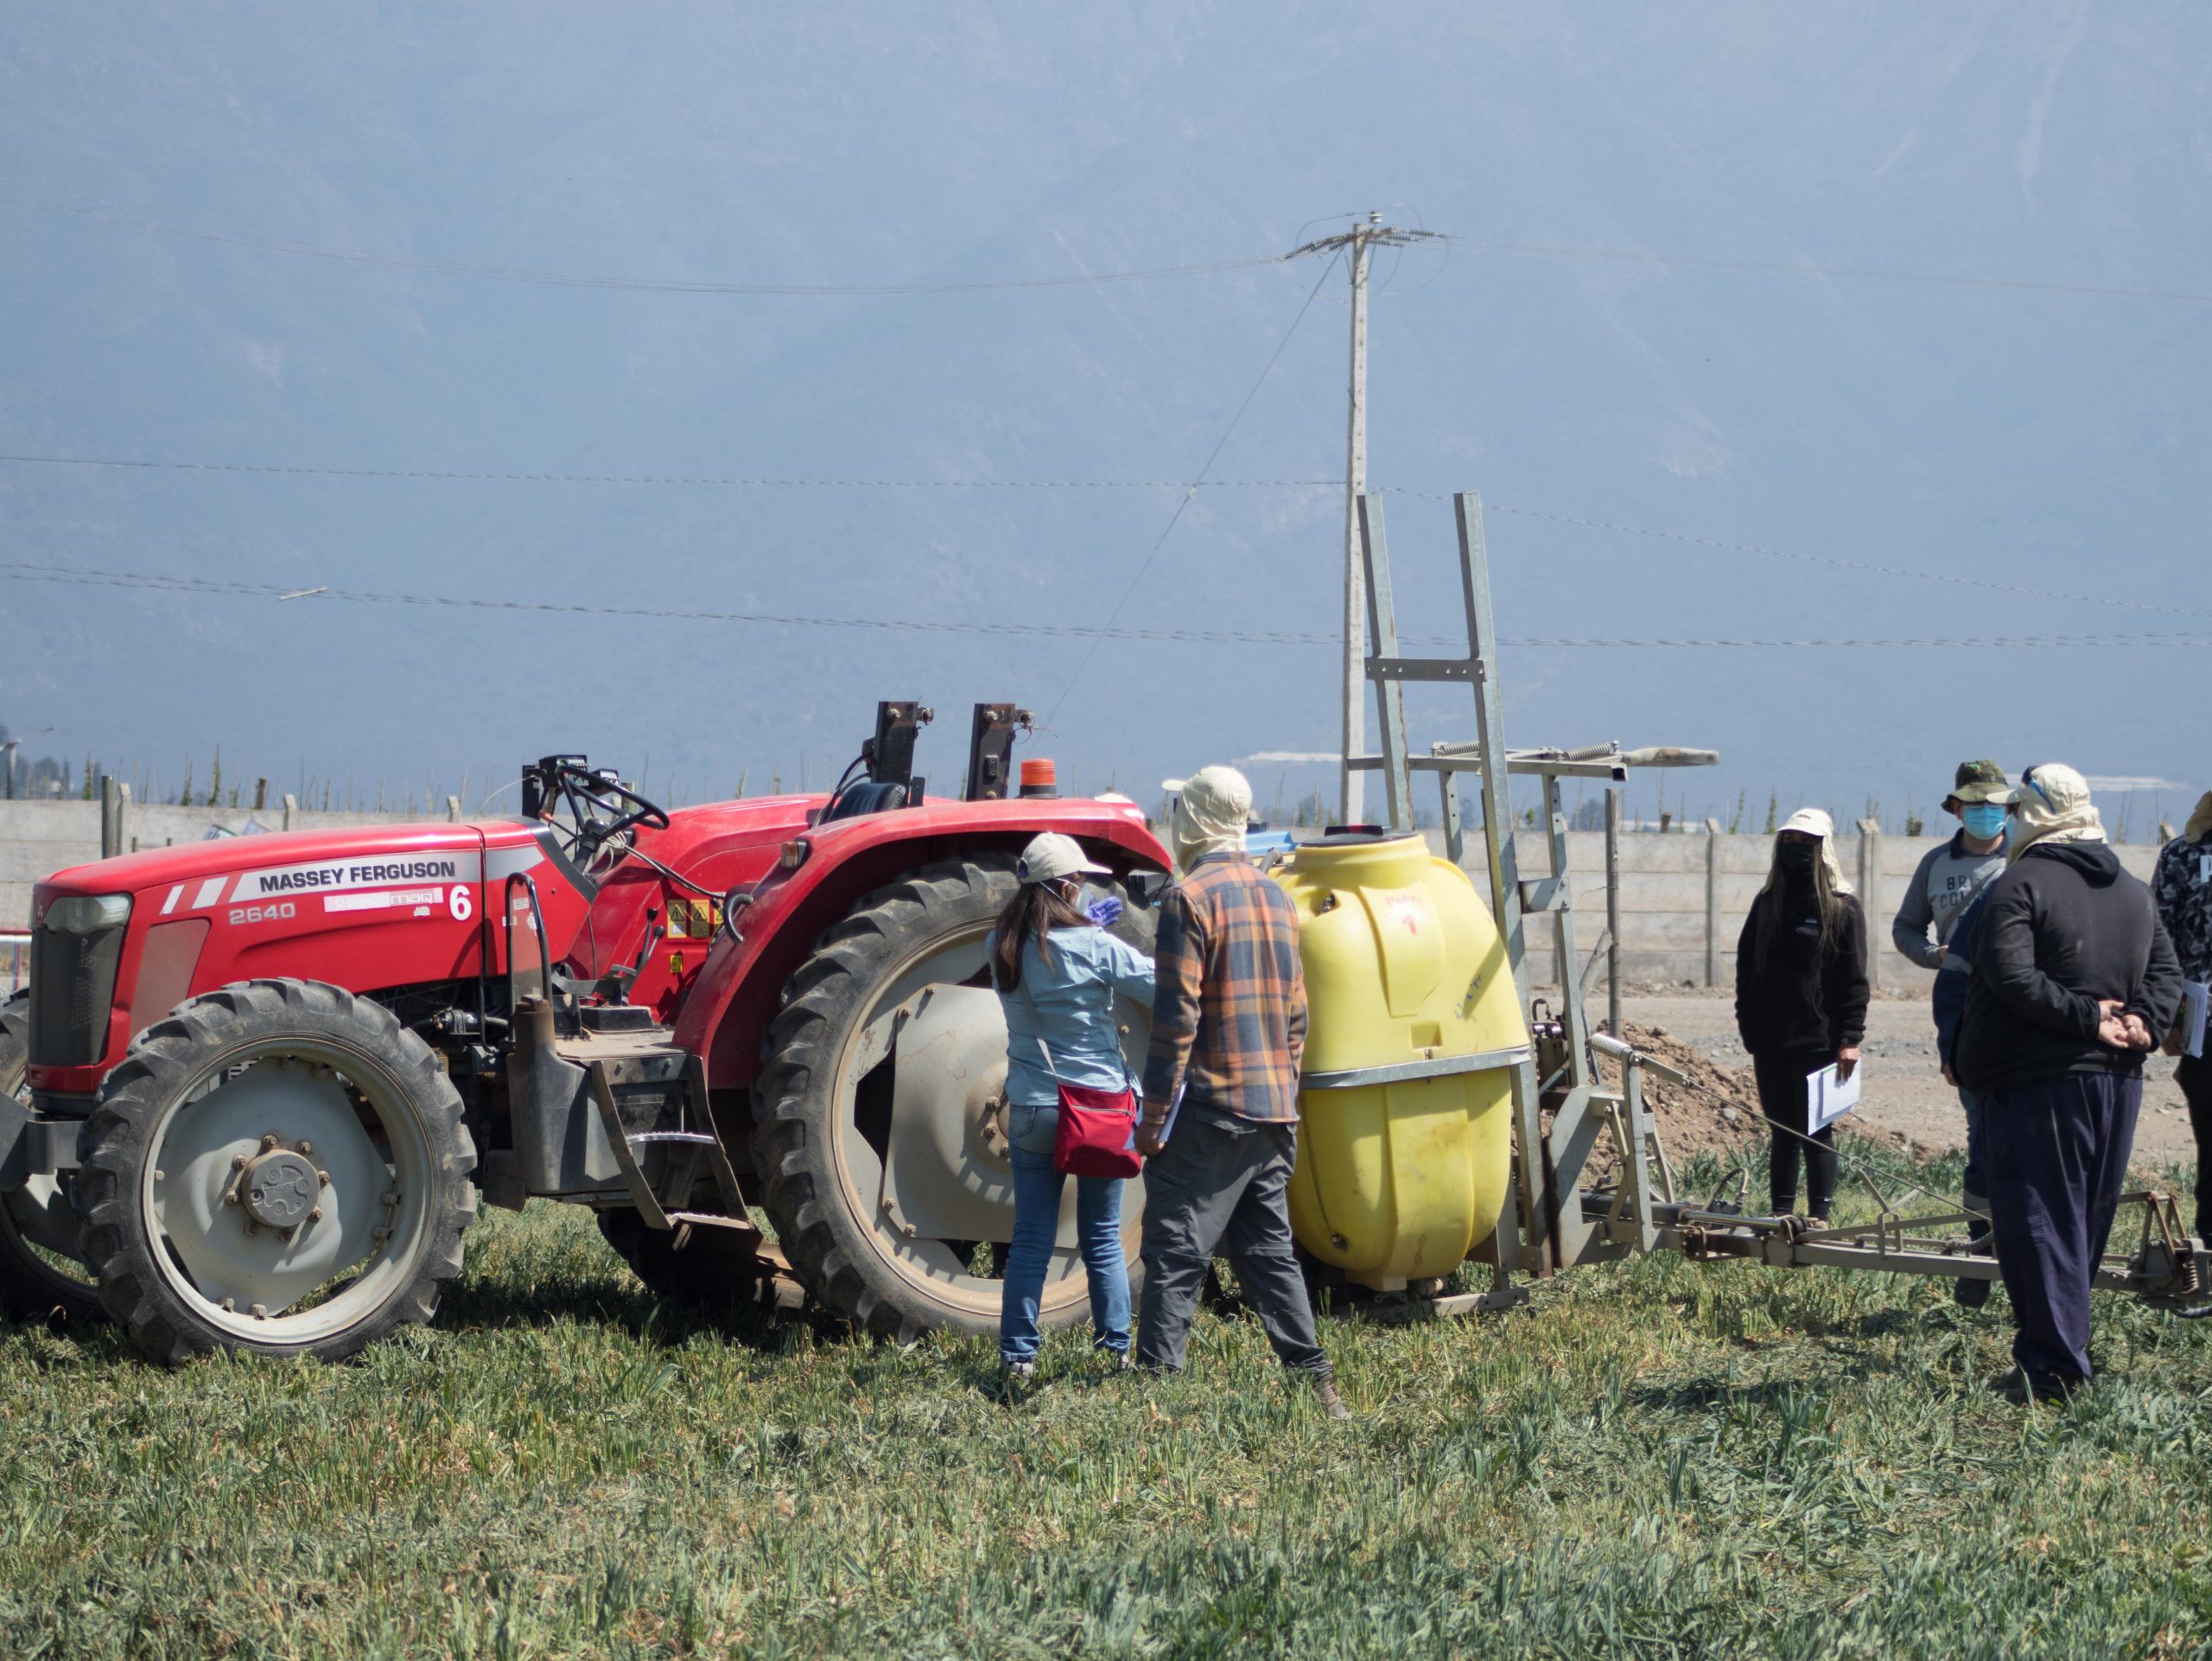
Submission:
{"label": "green grass field under the tractor and people", "polygon": [[[1936,1170],[1933,1181],[1955,1181]],[[2212,1323],[1986,1391],[2002,1296],[1681,1261],[1504,1318],[1250,1318],[1192,1371],[657,1309],[580,1212],[493,1212],[347,1367],[0,1338],[11,1657],[2212,1654]]]}

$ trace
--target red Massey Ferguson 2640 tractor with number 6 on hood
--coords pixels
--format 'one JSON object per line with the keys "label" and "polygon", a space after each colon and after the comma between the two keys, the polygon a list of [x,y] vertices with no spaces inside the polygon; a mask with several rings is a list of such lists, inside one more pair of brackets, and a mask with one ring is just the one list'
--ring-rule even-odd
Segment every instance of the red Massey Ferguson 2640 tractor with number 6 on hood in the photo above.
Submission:
{"label": "red Massey Ferguson 2640 tractor with number 6 on hood", "polygon": [[[546,756],[509,821],[53,874],[0,1006],[0,1298],[104,1307],[164,1362],[334,1358],[431,1318],[478,1197],[549,1197],[670,1298],[993,1327],[1013,1208],[982,962],[1015,854],[1057,829],[1139,891],[1168,858],[1135,805],[1055,798],[1048,763],[1015,790],[1013,706],[978,706],[962,794],[927,796],[927,719],[880,706],[827,796],[670,814]],[[1150,944],[1141,907],[1115,927]],[[1124,1031],[1135,1057],[1144,1013]],[[1082,1307],[1062,1252],[1046,1316]]]}

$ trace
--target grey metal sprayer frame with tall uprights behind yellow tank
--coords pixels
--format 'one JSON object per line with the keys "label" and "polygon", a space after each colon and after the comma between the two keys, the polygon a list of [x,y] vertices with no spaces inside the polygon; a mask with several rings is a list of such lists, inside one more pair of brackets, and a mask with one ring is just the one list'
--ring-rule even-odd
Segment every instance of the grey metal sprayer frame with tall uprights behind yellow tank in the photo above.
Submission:
{"label": "grey metal sprayer frame with tall uprights behind yellow tank", "polygon": [[[1391,599],[1389,553],[1383,540],[1383,504],[1358,498],[1360,560],[1367,573],[1367,679],[1376,688],[1376,714],[1383,754],[1349,756],[1352,767],[1383,774],[1389,823],[1413,829],[1413,774],[1436,774],[1442,792],[1444,852],[1453,865],[1467,867],[1467,832],[1460,823],[1460,774],[1478,774],[1482,783],[1482,860],[1489,871],[1491,913],[1506,944],[1513,984],[1522,1009],[1531,1009],[1533,986],[1526,964],[1526,918],[1548,913],[1555,962],[1559,964],[1559,1044],[1564,1062],[1551,1077],[1537,1075],[1537,1055],[1500,1053],[1495,1064],[1513,1068],[1513,1163],[1509,1212],[1489,1243],[1478,1247],[1478,1261],[1489,1261],[1495,1283],[1489,1292],[1440,1298],[1413,1298],[1400,1305],[1411,1314],[1475,1314],[1522,1303],[1528,1294],[1515,1285],[1515,1274],[1548,1278],[1579,1263],[1604,1263],[1632,1252],[1681,1252],[1699,1261],[1747,1258],[1774,1267],[1856,1267],[1889,1274],[1931,1274],[1953,1281],[1991,1281],[1997,1263],[1971,1250],[1964,1236],[1933,1234],[1973,1221],[1966,1212],[1944,1210],[1902,1216],[1891,1197],[1867,1183],[1878,1203],[1874,1223],[1812,1230],[1798,1216],[1747,1216],[1739,1201],[1719,1197],[1686,1203],[1674,1192],[1674,1172],[1659,1143],[1659,1126],[1644,1104],[1644,1073],[1674,1079],[1679,1073],[1621,1042],[1617,1033],[1590,1028],[1586,993],[1606,962],[1617,986],[1619,940],[1619,845],[1606,838],[1606,894],[1615,916],[1590,953],[1588,967],[1575,973],[1575,913],[1568,882],[1566,779],[1604,781],[1619,790],[1630,767],[1710,767],[1712,750],[1621,750],[1617,743],[1584,750],[1509,750],[1498,690],[1498,630],[1491,613],[1489,553],[1482,540],[1482,498],[1473,491],[1453,495],[1460,533],[1460,593],[1467,606],[1467,657],[1400,657],[1398,619]],[[1471,743],[1438,743],[1416,756],[1407,748],[1405,683],[1444,681],[1467,686],[1475,701],[1475,739]],[[1502,765],[1500,765],[1502,763]],[[1540,878],[1522,878],[1513,840],[1513,776],[1542,779],[1544,827],[1551,869]],[[1471,869],[1471,867],[1469,867]],[[1619,1088],[1606,1088],[1597,1077],[1595,1057],[1619,1064]],[[1420,1066],[1420,1064],[1416,1064]],[[1371,1082],[1371,1079],[1360,1079]],[[1307,1079],[1307,1084],[1316,1084]],[[1546,1095],[1559,1090],[1544,1124]],[[1610,1135],[1619,1155],[1621,1177],[1613,1188],[1584,1188],[1582,1177],[1599,1150],[1599,1137]],[[1745,1172],[1747,1177],[1747,1172]],[[2141,1208],[2143,1223],[2135,1252],[2108,1252],[2097,1270],[2097,1287],[2132,1292],[2159,1305],[2179,1307],[2205,1296],[2212,1287],[2212,1252],[2194,1245],[2181,1228],[2174,1194],[2146,1190],[2121,1197],[2124,1212]],[[2115,1225],[2119,1228],[2119,1225]],[[2126,1234],[2121,1234],[2126,1239]]]}

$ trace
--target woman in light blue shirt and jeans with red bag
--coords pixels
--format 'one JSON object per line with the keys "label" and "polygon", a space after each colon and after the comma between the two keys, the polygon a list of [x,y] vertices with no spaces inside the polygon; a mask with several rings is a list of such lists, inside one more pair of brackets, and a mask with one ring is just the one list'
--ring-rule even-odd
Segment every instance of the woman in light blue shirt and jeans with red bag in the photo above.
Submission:
{"label": "woman in light blue shirt and jeans with red bag", "polygon": [[[1022,887],[991,933],[991,984],[1006,1011],[1006,1159],[1013,1166],[1013,1245],[998,1320],[1009,1378],[1037,1371],[1037,1303],[1060,1232],[1066,1177],[1053,1168],[1060,1084],[1133,1086],[1115,995],[1152,1006],[1152,960],[1106,933],[1119,900],[1084,909],[1084,878],[1113,876],[1073,836],[1044,832],[1013,867]],[[1075,1179],[1075,1245],[1091,1278],[1093,1343],[1128,1365],[1128,1263],[1121,1179]]]}

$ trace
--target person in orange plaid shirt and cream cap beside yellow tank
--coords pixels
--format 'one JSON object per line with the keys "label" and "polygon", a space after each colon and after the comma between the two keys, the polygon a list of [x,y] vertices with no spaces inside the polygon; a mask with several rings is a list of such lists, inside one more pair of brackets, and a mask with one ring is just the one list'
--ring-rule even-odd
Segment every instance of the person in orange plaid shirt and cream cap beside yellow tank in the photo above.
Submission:
{"label": "person in orange plaid shirt and cream cap beside yellow tank", "polygon": [[1234,767],[1203,767],[1175,803],[1183,880],[1159,907],[1137,1126],[1148,1161],[1137,1367],[1183,1371],[1219,1247],[1274,1354],[1312,1380],[1329,1418],[1349,1418],[1290,1236],[1305,1048],[1298,913],[1243,852],[1250,812],[1252,785]]}

